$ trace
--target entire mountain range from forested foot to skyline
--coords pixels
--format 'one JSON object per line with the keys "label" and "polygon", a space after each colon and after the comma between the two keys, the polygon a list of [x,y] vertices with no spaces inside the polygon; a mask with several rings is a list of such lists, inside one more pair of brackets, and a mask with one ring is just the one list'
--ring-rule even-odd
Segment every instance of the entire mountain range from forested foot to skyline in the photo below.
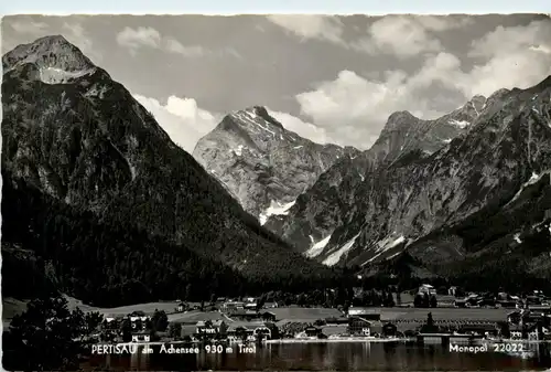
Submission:
{"label": "entire mountain range from forested foot to skyline", "polygon": [[10,294],[42,277],[105,306],[302,293],[350,274],[550,278],[551,77],[431,120],[393,113],[366,151],[252,106],[192,156],[63,36],[2,65]]}

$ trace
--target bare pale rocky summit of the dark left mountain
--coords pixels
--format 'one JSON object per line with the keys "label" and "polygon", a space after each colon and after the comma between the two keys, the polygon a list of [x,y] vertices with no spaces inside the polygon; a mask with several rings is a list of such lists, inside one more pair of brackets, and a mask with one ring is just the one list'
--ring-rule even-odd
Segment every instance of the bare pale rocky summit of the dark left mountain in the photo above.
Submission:
{"label": "bare pale rocky summit of the dark left mountain", "polygon": [[[90,73],[96,66],[62,35],[50,35],[21,44],[2,57],[4,73],[26,63],[47,75]],[[68,77],[68,76],[66,76]]]}

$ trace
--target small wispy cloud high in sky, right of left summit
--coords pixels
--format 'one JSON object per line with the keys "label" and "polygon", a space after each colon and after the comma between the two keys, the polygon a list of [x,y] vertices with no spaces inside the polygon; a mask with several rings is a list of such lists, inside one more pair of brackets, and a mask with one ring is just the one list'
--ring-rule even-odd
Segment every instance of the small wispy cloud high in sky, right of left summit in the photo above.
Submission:
{"label": "small wispy cloud high in sky, right of left summit", "polygon": [[144,26],[125,28],[117,34],[117,43],[127,47],[132,55],[136,55],[138,50],[142,47],[162,50],[185,57],[201,57],[210,54],[199,45],[183,45],[172,36],[162,35],[155,29]]}

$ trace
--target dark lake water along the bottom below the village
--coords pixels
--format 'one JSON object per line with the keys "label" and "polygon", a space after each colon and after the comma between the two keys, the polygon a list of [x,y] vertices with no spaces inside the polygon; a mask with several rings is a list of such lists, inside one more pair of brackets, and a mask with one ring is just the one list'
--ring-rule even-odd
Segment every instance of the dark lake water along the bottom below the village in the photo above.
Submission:
{"label": "dark lake water along the bottom below the village", "polygon": [[[414,342],[327,342],[271,343],[256,348],[255,353],[212,354],[138,352],[125,355],[94,355],[83,368],[108,366],[120,371],[196,371],[196,370],[309,370],[309,371],[522,371],[551,366],[549,343],[527,344],[523,358],[503,352],[451,352],[441,344]],[[141,349],[139,349],[141,350]]]}

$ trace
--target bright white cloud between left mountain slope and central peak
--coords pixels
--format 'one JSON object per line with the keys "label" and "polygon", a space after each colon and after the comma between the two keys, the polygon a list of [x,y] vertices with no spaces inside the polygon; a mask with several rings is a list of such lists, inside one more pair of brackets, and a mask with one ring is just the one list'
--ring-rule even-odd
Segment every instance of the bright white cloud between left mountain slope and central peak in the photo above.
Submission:
{"label": "bright white cloud between left mountain slope and central peak", "polygon": [[166,104],[155,98],[134,94],[133,97],[148,109],[169,137],[188,153],[193,152],[201,137],[213,130],[222,116],[197,107],[193,98],[170,96]]}

